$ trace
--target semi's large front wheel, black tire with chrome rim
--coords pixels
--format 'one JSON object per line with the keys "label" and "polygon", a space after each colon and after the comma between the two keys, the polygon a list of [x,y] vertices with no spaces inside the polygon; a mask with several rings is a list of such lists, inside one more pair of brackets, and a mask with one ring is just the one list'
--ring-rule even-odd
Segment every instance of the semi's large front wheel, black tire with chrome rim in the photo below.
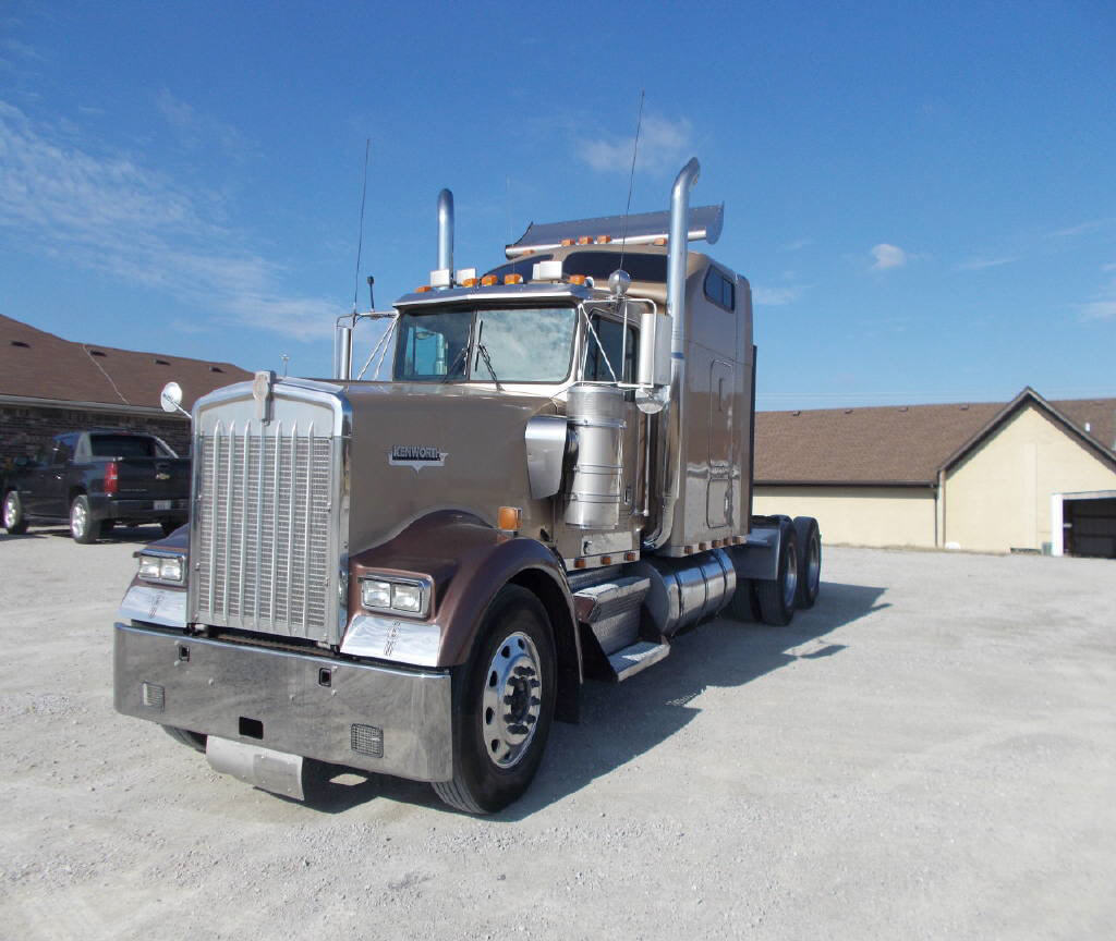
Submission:
{"label": "semi's large front wheel, black tire with chrome rim", "polygon": [[434,792],[468,814],[502,811],[535,777],[555,710],[554,634],[531,592],[500,590],[453,680],[453,779]]}

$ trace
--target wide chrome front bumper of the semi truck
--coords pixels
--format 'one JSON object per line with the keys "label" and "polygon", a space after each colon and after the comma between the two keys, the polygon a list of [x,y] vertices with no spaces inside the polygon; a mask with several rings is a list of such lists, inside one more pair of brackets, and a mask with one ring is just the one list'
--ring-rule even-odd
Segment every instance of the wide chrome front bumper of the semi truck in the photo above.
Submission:
{"label": "wide chrome front bumper of the semi truck", "polygon": [[113,661],[126,716],[414,780],[453,776],[449,673],[119,622]]}

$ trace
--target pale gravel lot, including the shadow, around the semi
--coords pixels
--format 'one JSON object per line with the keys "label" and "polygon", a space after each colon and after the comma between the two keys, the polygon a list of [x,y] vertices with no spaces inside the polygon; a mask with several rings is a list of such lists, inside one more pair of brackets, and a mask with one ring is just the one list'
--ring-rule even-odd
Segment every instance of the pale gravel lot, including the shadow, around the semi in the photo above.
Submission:
{"label": "pale gravel lot, including the shadow, around the semi", "polygon": [[132,552],[0,535],[0,937],[1099,938],[1116,923],[1116,564],[826,550],[556,725],[490,818],[312,805],[112,708]]}

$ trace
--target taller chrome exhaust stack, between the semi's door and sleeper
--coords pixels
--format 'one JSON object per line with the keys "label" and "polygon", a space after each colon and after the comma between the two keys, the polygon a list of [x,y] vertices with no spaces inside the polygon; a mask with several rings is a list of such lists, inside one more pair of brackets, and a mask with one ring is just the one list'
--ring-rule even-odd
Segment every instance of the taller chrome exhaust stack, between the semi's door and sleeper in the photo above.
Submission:
{"label": "taller chrome exhaust stack, between the semi's door and sleeper", "polygon": [[[660,549],[671,537],[674,504],[679,499],[682,475],[682,392],[686,378],[686,260],[690,255],[690,191],[701,175],[701,164],[691,157],[674,180],[671,190],[671,234],[666,250],[666,313],[671,318],[670,398],[660,419],[662,448],[661,508],[654,531],[644,537],[644,549]],[[715,241],[715,236],[714,236]]]}

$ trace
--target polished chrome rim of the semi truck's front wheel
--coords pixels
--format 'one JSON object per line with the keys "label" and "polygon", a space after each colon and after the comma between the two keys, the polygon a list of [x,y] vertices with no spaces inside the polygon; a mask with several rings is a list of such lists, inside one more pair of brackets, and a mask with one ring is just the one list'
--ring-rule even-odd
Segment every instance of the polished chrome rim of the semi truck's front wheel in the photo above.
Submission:
{"label": "polished chrome rim of the semi truck's front wheel", "polygon": [[527,754],[542,710],[541,692],[539,651],[516,631],[496,649],[481,696],[481,736],[497,767],[511,768]]}

